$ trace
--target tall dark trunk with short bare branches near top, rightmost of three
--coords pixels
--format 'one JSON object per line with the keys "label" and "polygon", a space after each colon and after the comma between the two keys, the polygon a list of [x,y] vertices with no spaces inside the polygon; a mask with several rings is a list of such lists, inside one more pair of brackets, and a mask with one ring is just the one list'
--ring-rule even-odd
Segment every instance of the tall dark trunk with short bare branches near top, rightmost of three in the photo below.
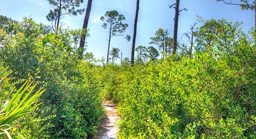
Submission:
{"label": "tall dark trunk with short bare branches near top, rightmost of three", "polygon": [[177,34],[178,34],[178,20],[179,20],[179,5],[180,5],[180,0],[176,0],[172,54],[175,54],[176,51],[177,51]]}

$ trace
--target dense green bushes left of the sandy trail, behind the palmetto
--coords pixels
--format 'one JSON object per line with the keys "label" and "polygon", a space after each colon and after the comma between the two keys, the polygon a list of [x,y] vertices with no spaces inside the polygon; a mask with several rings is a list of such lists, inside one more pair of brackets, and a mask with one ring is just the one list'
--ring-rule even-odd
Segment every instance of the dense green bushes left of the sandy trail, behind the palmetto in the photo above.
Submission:
{"label": "dense green bushes left of the sandy trail, behind the palmetto", "polygon": [[47,89],[42,96],[44,104],[36,114],[20,119],[47,120],[15,130],[34,139],[94,136],[104,115],[103,97],[96,67],[78,60],[76,45],[81,32],[60,29],[52,33],[48,26],[27,18],[14,29],[12,35],[0,30],[0,73],[12,78],[13,88],[24,79],[31,79]]}

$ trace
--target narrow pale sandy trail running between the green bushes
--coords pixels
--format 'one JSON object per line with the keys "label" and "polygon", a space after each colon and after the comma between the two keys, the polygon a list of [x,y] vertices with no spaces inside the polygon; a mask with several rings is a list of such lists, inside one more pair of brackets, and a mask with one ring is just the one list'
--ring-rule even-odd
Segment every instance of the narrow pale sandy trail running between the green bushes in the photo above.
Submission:
{"label": "narrow pale sandy trail running between the green bushes", "polygon": [[120,117],[116,113],[116,106],[110,101],[105,101],[104,107],[106,116],[99,126],[96,139],[117,139],[117,123]]}

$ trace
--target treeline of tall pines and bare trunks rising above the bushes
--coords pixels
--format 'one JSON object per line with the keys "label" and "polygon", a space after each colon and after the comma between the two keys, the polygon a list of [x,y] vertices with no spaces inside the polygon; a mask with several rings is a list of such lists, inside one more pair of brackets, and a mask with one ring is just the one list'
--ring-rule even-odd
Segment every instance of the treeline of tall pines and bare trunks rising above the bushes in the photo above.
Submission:
{"label": "treeline of tall pines and bare trunks rising above the bushes", "polygon": [[[86,10],[85,8],[82,8],[83,6],[81,6],[84,3],[84,0],[47,0],[49,2],[49,5],[52,7],[52,9],[49,11],[49,14],[47,14],[46,18],[47,20],[49,20],[52,23],[52,31],[53,32],[58,32],[58,29],[61,28],[62,24],[64,22],[61,21],[61,19],[66,16],[76,16],[78,14],[82,14],[84,11],[86,11],[85,16],[84,16],[84,23],[81,29],[81,37],[78,38],[79,40],[79,55],[80,55],[80,59],[83,58],[84,55],[88,56],[88,53],[84,54],[85,49],[85,39],[87,36],[89,36],[89,29],[88,29],[88,22],[89,22],[89,18],[90,18],[90,13],[91,13],[91,7],[93,5],[93,0],[87,0],[87,7]],[[209,23],[207,20],[204,20],[202,17],[198,17],[198,21],[195,22],[192,26],[191,26],[191,30],[189,32],[184,32],[183,33],[183,37],[187,37],[187,39],[189,40],[189,44],[185,44],[182,42],[178,42],[177,41],[177,34],[178,34],[178,20],[179,20],[179,15],[182,14],[186,14],[185,11],[188,11],[189,9],[187,8],[180,8],[180,0],[174,0],[175,3],[169,5],[170,9],[175,9],[175,15],[174,15],[174,27],[173,27],[173,35],[172,37],[170,37],[170,32],[169,29],[159,29],[156,31],[155,36],[151,37],[151,42],[149,42],[149,44],[154,44],[155,46],[158,46],[159,49],[161,49],[160,54],[162,55],[162,58],[164,58],[164,55],[170,55],[170,54],[183,54],[186,52],[189,52],[190,55],[192,55],[193,52],[197,51],[198,48],[195,47],[195,44],[199,44],[200,45],[200,39],[198,38],[199,33],[205,33],[207,34],[207,32],[201,31],[200,29],[198,29],[198,22],[201,22],[203,24],[211,24]],[[251,10],[255,10],[256,7],[256,3],[253,1],[248,1],[248,0],[241,0],[240,3],[233,3],[232,1],[226,1],[226,0],[217,0],[217,1],[221,1],[224,4],[228,4],[228,5],[233,5],[233,6],[240,6],[241,9],[251,9]],[[138,55],[141,54],[142,52],[142,48],[138,48],[136,50],[136,34],[137,34],[137,21],[138,21],[138,17],[139,17],[139,9],[140,9],[140,0],[137,0],[136,5],[134,5],[134,7],[136,6],[136,11],[135,11],[135,20],[134,20],[134,34],[133,34],[133,38],[132,38],[132,46],[131,46],[131,65],[134,64],[134,61],[141,60],[141,56],[139,57],[135,57],[134,52],[136,51]],[[166,8],[168,8],[168,6],[166,6]],[[92,11],[93,12],[93,11]],[[256,15],[255,15],[256,16]],[[125,30],[128,27],[128,24],[125,23],[125,16],[123,14],[119,14],[119,12],[117,12],[116,10],[111,10],[111,11],[107,11],[105,12],[104,16],[100,17],[100,20],[102,20],[104,23],[102,24],[102,27],[104,29],[107,29],[109,32],[109,37],[108,37],[108,52],[107,52],[107,58],[106,58],[106,64],[109,64],[110,61],[113,61],[116,58],[120,58],[121,60],[121,64],[122,64],[122,53],[119,54],[118,52],[116,52],[116,48],[112,48],[112,52],[110,55],[110,51],[111,51],[111,39],[113,37],[116,36],[122,36],[124,37],[127,41],[130,41],[131,36],[130,35],[125,35]],[[205,25],[207,26],[207,25]],[[256,26],[256,23],[255,23]],[[209,26],[210,28],[210,26]],[[217,28],[212,28],[212,32],[218,32],[218,27]],[[201,35],[202,36],[202,35]],[[210,43],[209,43],[210,44]],[[137,46],[138,47],[138,46]],[[189,47],[189,48],[187,48]],[[150,46],[149,49],[153,49],[153,47]],[[146,49],[144,49],[144,53],[148,53]],[[139,52],[140,51],[140,52]],[[152,52],[155,50],[152,50]],[[118,53],[118,55],[116,55]],[[125,52],[127,53],[127,52]],[[113,55],[114,54],[114,55]],[[120,57],[119,57],[120,55]],[[157,55],[157,54],[154,54]],[[90,55],[93,56],[93,55]],[[111,57],[110,57],[111,56]],[[126,60],[128,58],[125,58]],[[147,58],[149,59],[149,58]]]}

